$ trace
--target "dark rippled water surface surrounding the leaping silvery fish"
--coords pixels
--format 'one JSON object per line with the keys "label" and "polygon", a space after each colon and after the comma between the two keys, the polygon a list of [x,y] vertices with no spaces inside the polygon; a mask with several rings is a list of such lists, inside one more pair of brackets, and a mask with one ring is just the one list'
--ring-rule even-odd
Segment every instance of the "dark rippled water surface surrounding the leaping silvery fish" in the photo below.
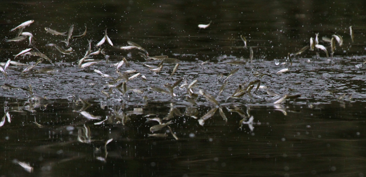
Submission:
{"label": "dark rippled water surface surrounding the leaping silvery fish", "polygon": [[[22,70],[26,66],[10,65],[7,78],[0,75],[3,87],[7,83],[29,89],[31,84],[34,91],[0,90],[0,107],[4,108],[0,116],[11,115],[11,122],[5,116],[0,127],[0,174],[362,177],[366,173],[366,71],[361,65],[366,60],[365,7],[364,1],[4,1],[0,6],[0,61],[32,64],[38,60],[34,56],[14,59],[13,55],[31,48],[28,39],[4,41],[16,37],[16,31],[10,29],[34,20],[23,31],[34,35],[34,46],[55,64],[44,60],[25,74]],[[197,27],[210,20],[208,28]],[[71,40],[73,53],[61,54],[45,46],[54,43],[67,49],[59,43],[66,36],[46,33],[44,27],[65,32],[70,25],[75,25],[74,35],[83,33],[87,26],[84,38]],[[354,30],[354,42],[349,26]],[[94,52],[97,48],[93,46],[103,38],[106,28],[114,46],[106,42],[101,48],[110,56],[109,63],[98,54],[92,58],[102,61],[79,68],[77,61],[87,50],[87,39],[92,40]],[[315,33],[320,40],[339,34],[344,44],[336,45],[335,57],[327,58],[321,50],[306,50],[292,57],[291,65],[287,54],[309,45]],[[245,63],[249,49],[243,48],[240,35],[254,50],[253,63]],[[142,64],[156,67],[160,61],[145,61],[137,49],[118,48],[127,46],[127,41],[141,45],[149,56],[179,59],[178,70],[169,78],[176,63],[164,62],[161,72],[149,71]],[[330,53],[329,43],[320,44]],[[128,90],[122,95],[107,85],[111,79],[93,71],[117,78],[119,74],[111,64],[123,57],[130,66],[123,65],[119,71],[136,69],[141,73],[129,80],[127,87],[143,93]],[[232,61],[245,64],[228,64]],[[284,68],[290,71],[276,74]],[[228,77],[225,90],[218,96],[233,69],[239,71]],[[175,98],[150,88],[166,89],[164,84],[180,78],[187,84],[197,80],[194,93],[203,89],[213,95],[227,122],[217,110],[199,125],[191,115],[201,118],[216,106],[201,95],[195,100],[197,105],[188,102],[186,86],[179,87],[182,83],[174,89]],[[253,98],[247,94],[228,98],[239,84],[246,87],[257,79],[261,88],[251,91]],[[280,96],[267,94],[268,89]],[[273,104],[285,94],[301,96]],[[343,94],[345,97],[338,99]],[[91,106],[85,109],[79,98]],[[170,103],[184,114],[173,114],[170,119],[173,124],[169,126],[178,140],[167,127],[154,132],[165,132],[166,138],[148,137],[150,127],[158,123],[145,123],[144,116],[167,117]],[[248,124],[241,127],[243,117],[230,109],[241,110],[245,121],[247,113],[253,116],[253,131]],[[101,116],[100,120],[88,120],[81,115],[82,110]],[[127,117],[122,119],[123,115]],[[16,161],[33,169],[28,167],[31,172],[27,172],[27,167]]]}

